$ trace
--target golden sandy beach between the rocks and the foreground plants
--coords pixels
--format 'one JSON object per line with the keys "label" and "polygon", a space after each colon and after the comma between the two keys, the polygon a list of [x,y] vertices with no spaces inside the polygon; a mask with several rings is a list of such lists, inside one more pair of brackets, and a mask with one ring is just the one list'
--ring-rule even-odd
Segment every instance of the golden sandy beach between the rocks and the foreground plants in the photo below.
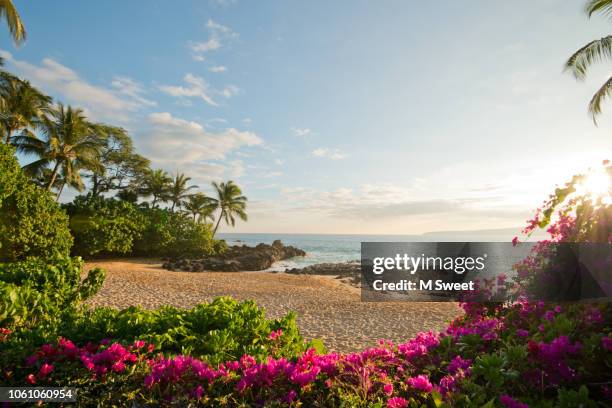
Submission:
{"label": "golden sandy beach between the rocks and the foreground plants", "polygon": [[380,338],[404,341],[419,331],[440,330],[460,313],[454,303],[361,302],[359,290],[325,276],[269,272],[170,272],[151,260],[87,263],[106,270],[103,288],[89,303],[124,308],[192,307],[217,296],[253,299],[269,317],[297,312],[305,338],[330,350],[355,351]]}

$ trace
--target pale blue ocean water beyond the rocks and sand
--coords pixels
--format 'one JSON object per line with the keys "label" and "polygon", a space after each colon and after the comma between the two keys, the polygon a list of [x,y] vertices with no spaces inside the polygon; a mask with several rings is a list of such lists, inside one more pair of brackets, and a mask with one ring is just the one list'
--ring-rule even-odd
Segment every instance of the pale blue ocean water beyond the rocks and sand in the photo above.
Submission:
{"label": "pale blue ocean water beyond the rocks and sand", "polygon": [[219,233],[217,238],[229,245],[255,246],[271,244],[280,239],[285,245],[293,245],[306,251],[305,257],[296,257],[277,262],[270,270],[303,268],[326,262],[359,261],[361,242],[510,242],[512,232],[474,231],[456,233],[429,233],[423,235],[331,235],[331,234],[272,234],[272,233]]}

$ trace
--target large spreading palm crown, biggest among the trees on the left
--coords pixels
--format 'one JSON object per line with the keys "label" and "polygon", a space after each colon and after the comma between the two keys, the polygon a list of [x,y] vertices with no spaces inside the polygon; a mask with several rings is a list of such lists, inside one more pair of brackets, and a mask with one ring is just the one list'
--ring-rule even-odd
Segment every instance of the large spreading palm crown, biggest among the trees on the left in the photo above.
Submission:
{"label": "large spreading palm crown, biggest among the trees on the left", "polygon": [[46,168],[51,168],[47,190],[51,190],[62,175],[70,185],[83,185],[80,170],[94,170],[100,166],[103,129],[87,120],[81,109],[58,104],[40,126],[44,136],[24,133],[12,137],[17,151],[34,154],[38,160],[24,166],[24,171],[36,177]]}

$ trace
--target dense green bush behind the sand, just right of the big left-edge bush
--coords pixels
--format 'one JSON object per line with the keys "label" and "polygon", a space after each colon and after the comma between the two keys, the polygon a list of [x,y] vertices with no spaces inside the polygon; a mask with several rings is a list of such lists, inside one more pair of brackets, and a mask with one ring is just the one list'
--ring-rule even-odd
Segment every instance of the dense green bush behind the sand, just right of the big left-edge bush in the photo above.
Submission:
{"label": "dense green bush behind the sand, just right of the big left-edge bush", "polygon": [[116,255],[132,251],[144,230],[144,216],[131,203],[101,196],[78,196],[65,204],[76,255]]}

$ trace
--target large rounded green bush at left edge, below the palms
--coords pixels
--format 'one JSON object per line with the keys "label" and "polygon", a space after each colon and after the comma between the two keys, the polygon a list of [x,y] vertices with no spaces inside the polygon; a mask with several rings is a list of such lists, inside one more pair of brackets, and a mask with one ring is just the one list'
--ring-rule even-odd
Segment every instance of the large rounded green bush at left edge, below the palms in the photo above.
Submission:
{"label": "large rounded green bush at left edge, below the palms", "polygon": [[0,145],[0,262],[67,255],[71,246],[66,214],[21,172],[14,150]]}

